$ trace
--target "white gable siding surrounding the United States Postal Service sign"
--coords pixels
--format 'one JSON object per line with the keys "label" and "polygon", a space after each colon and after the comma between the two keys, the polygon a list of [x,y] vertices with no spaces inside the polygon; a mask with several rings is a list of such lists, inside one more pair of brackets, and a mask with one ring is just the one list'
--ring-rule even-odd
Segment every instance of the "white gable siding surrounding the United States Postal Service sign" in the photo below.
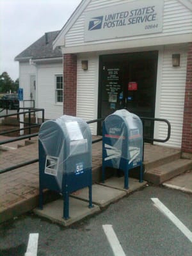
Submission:
{"label": "white gable siding surrounding the United States Postal Service sign", "polygon": [[[84,43],[85,12],[98,8],[108,8],[111,5],[128,2],[131,2],[131,0],[92,0],[86,10],[81,13],[79,19],[77,19],[72,28],[70,28],[67,35],[65,35],[65,47],[95,44],[95,42]],[[157,36],[179,35],[185,33],[192,33],[191,11],[177,0],[164,0],[163,33],[157,33],[154,35],[130,36],[129,38],[117,38],[112,40],[102,40],[102,43],[154,38]],[[99,44],[99,42],[101,41],[97,41],[97,44]]]}

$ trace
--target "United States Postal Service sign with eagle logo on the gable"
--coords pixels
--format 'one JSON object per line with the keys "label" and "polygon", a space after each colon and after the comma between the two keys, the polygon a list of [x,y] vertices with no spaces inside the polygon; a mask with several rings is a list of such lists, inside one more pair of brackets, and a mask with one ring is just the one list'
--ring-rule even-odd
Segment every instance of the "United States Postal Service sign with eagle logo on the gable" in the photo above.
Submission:
{"label": "United States Postal Service sign with eagle logo on the gable", "polygon": [[163,31],[163,0],[141,0],[86,12],[84,41]]}

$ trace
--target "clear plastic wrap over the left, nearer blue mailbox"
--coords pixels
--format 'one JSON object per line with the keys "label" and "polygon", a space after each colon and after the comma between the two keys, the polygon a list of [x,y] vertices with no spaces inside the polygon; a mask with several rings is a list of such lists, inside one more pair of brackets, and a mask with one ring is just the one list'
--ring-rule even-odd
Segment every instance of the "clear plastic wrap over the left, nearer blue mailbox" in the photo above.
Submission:
{"label": "clear plastic wrap over the left, nearer blue mailbox", "polygon": [[40,127],[39,140],[46,155],[44,172],[54,175],[60,188],[64,172],[81,175],[83,170],[92,168],[92,135],[81,118],[63,115],[45,122]]}

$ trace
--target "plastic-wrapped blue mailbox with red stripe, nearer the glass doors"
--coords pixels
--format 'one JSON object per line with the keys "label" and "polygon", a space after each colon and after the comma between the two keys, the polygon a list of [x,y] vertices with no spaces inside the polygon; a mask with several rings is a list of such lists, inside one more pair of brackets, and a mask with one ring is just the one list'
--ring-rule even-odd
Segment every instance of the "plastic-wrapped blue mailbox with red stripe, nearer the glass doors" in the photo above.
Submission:
{"label": "plastic-wrapped blue mailbox with red stripe, nearer the glass doors", "polygon": [[102,126],[102,182],[106,167],[124,172],[124,188],[129,188],[129,170],[140,166],[143,182],[143,125],[140,118],[126,109],[107,116]]}

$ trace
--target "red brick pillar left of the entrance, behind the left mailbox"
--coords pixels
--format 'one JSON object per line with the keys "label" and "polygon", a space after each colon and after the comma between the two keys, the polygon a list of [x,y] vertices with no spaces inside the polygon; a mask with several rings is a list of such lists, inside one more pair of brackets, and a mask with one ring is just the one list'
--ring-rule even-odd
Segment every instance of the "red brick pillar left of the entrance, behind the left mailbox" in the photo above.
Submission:
{"label": "red brick pillar left of the entrance, behind the left mailbox", "polygon": [[63,113],[76,116],[77,102],[77,56],[63,56]]}

